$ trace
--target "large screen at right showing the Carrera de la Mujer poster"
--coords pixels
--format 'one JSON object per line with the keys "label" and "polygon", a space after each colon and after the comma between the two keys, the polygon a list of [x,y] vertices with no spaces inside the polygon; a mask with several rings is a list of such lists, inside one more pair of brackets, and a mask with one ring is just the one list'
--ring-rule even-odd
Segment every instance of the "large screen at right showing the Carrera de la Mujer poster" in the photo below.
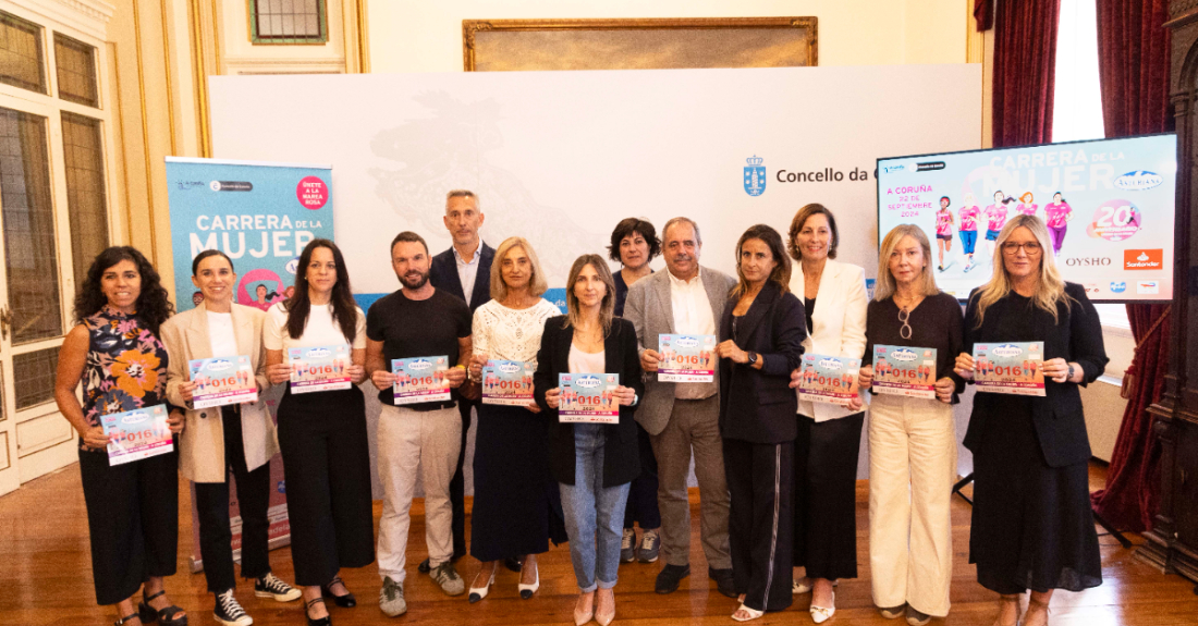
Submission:
{"label": "large screen at right showing the Carrera de la Mujer poster", "polygon": [[1095,302],[1173,297],[1176,135],[878,159],[878,242],[924,229],[958,299],[990,280],[997,236],[1036,215],[1065,280]]}

